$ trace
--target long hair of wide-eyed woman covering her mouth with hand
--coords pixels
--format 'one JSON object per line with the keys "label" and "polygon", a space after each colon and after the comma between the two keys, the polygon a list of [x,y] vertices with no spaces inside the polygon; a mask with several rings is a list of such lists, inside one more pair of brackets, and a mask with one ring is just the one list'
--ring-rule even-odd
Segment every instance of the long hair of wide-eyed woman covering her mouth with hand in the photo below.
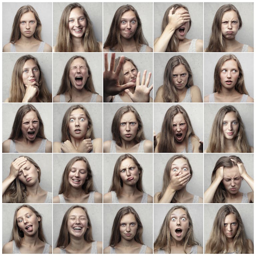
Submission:
{"label": "long hair of wide-eyed woman covering her mouth with hand", "polygon": [[[179,159],[179,158],[183,158],[183,159],[185,159],[185,160],[187,161],[188,167],[189,167],[189,170],[190,170],[190,174],[191,174],[191,176],[190,176],[190,178],[189,178],[189,181],[191,180],[192,175],[193,175],[193,170],[192,170],[192,167],[191,167],[191,165],[190,165],[190,163],[189,163],[188,158],[185,157],[184,155],[174,155],[174,156],[172,156],[172,157],[168,160],[168,162],[166,163],[166,166],[165,166],[165,169],[164,169],[163,187],[162,187],[161,193],[157,196],[158,200],[160,200],[160,199],[163,197],[163,195],[164,195],[164,193],[165,193],[167,187],[168,187],[169,184],[170,184],[170,173],[171,173],[172,163],[173,163],[176,159]],[[178,201],[178,196],[179,196],[179,191],[177,190],[177,191],[175,192],[173,198],[172,198],[171,203],[181,203],[181,202]]]}

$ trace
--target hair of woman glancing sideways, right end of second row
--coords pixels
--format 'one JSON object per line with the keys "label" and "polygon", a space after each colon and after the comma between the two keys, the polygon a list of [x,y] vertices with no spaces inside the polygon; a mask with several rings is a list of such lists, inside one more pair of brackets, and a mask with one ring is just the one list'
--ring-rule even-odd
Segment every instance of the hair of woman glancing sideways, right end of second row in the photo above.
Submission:
{"label": "hair of woman glancing sideways, right end of second row", "polygon": [[241,94],[249,94],[247,92],[247,90],[245,89],[245,84],[244,84],[244,72],[242,70],[242,66],[239,62],[239,60],[237,59],[237,57],[234,54],[226,54],[224,56],[222,56],[216,66],[215,66],[215,70],[214,70],[214,86],[213,86],[213,92],[220,92],[221,91],[221,82],[220,82],[220,73],[221,73],[221,68],[224,64],[225,61],[227,60],[234,60],[237,64],[238,70],[239,70],[239,77],[237,79],[236,85],[235,85],[235,89],[237,92],[241,93]]}

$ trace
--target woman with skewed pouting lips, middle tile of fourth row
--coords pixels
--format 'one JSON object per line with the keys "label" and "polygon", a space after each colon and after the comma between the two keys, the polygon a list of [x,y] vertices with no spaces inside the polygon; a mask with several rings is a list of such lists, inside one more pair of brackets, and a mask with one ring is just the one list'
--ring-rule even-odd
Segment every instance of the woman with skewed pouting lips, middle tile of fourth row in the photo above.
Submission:
{"label": "woman with skewed pouting lips, middle tile of fourth row", "polygon": [[142,187],[143,169],[131,154],[118,157],[109,192],[103,197],[104,203],[153,203],[152,196]]}

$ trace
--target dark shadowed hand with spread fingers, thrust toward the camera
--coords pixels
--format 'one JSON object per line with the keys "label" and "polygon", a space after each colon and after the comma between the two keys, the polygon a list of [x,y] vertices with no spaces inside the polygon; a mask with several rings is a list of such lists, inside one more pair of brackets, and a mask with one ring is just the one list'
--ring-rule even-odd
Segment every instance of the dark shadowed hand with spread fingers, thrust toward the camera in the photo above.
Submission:
{"label": "dark shadowed hand with spread fingers, thrust toward the camera", "polygon": [[120,57],[119,63],[115,69],[115,53],[111,54],[110,67],[108,70],[108,54],[104,53],[104,66],[105,71],[103,72],[103,96],[113,96],[119,94],[121,91],[134,87],[134,83],[129,82],[124,85],[119,84],[119,74],[124,64],[124,56]]}

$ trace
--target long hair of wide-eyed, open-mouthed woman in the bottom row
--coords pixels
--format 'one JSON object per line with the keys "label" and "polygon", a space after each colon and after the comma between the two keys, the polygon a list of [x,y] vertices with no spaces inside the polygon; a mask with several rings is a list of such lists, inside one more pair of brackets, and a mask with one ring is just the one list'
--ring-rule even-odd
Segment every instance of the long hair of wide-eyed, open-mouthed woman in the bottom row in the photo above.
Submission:
{"label": "long hair of wide-eyed, open-mouthed woman in the bottom row", "polygon": [[162,249],[164,250],[166,247],[168,248],[168,253],[171,253],[171,241],[172,236],[170,232],[170,220],[171,220],[171,214],[177,210],[177,209],[183,209],[186,212],[186,215],[188,217],[189,222],[189,229],[187,230],[187,233],[185,237],[183,238],[184,241],[184,252],[186,253],[186,247],[191,247],[193,245],[199,245],[199,243],[194,238],[194,231],[193,231],[193,223],[192,219],[189,215],[188,209],[183,205],[174,205],[166,214],[164,218],[164,222],[160,228],[159,234],[154,242],[154,250]]}

